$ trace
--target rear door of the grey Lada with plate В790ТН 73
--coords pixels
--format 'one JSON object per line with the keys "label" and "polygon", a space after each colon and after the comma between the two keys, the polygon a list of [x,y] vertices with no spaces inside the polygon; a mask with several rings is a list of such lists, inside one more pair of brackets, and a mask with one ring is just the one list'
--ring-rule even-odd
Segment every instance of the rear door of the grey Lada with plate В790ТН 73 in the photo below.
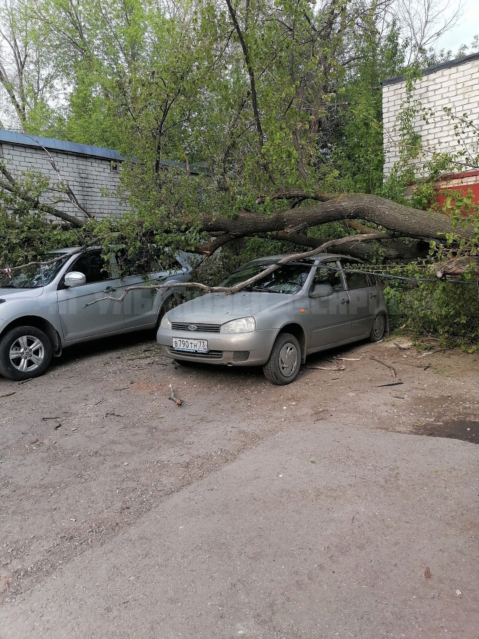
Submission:
{"label": "rear door of the grey Lada with plate \u0412790\u0422\u041d 73", "polygon": [[371,330],[372,312],[376,308],[377,291],[371,286],[366,273],[351,272],[359,264],[341,260],[344,268],[347,292],[349,293],[349,313],[351,315],[351,337],[361,337]]}

